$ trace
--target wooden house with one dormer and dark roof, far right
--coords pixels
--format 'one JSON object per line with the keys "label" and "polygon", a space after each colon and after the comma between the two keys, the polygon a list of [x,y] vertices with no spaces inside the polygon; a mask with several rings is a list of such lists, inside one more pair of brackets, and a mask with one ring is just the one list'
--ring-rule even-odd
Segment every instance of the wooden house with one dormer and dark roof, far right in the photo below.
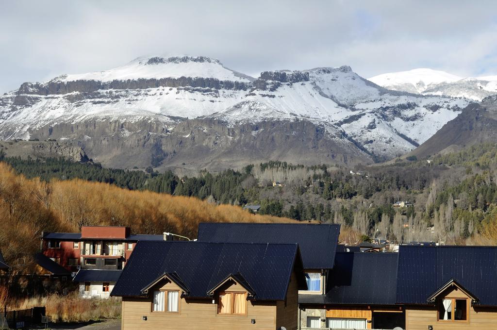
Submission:
{"label": "wooden house with one dormer and dark roof, far right", "polygon": [[496,329],[497,248],[401,246],[396,295],[406,329]]}

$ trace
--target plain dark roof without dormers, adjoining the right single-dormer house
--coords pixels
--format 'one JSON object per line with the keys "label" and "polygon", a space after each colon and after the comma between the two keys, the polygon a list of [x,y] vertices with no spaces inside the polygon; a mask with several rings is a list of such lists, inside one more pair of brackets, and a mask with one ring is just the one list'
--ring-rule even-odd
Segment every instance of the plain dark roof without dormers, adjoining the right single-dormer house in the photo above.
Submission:
{"label": "plain dark roof without dormers, adjoining the right single-dormer house", "polygon": [[299,295],[299,303],[395,305],[398,253],[338,252],[326,295]]}

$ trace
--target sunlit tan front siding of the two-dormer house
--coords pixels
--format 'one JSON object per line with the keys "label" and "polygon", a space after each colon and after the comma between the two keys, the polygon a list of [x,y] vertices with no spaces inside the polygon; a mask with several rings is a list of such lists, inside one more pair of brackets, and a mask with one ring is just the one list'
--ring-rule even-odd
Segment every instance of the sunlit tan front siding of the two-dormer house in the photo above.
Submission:
{"label": "sunlit tan front siding of the two-dormer house", "polygon": [[[179,290],[173,283],[159,283],[157,288],[164,290]],[[230,291],[245,291],[235,284],[228,288]],[[153,291],[153,290],[151,290]],[[297,292],[295,292],[295,295]],[[248,301],[247,316],[218,315],[217,303],[212,300],[180,299],[179,313],[151,312],[152,298],[123,298],[122,330],[159,330],[159,329],[188,329],[188,330],[274,330],[276,329],[276,303],[253,303]],[[287,308],[288,309],[288,308]],[[294,326],[297,324],[297,309]],[[143,316],[147,321],[143,321]],[[255,319],[255,324],[251,324]]]}

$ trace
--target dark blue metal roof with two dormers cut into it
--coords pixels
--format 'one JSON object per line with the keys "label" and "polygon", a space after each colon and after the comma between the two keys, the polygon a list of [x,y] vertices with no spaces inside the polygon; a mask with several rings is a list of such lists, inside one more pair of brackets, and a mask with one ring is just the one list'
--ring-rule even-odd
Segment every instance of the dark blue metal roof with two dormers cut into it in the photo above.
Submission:
{"label": "dark blue metal roof with two dormers cut into it", "polygon": [[[284,300],[294,266],[302,269],[296,244],[140,241],[111,295],[144,297],[143,288],[174,272],[189,297],[210,298],[211,288],[240,273],[255,291],[255,300]],[[306,288],[303,273],[299,283]]]}

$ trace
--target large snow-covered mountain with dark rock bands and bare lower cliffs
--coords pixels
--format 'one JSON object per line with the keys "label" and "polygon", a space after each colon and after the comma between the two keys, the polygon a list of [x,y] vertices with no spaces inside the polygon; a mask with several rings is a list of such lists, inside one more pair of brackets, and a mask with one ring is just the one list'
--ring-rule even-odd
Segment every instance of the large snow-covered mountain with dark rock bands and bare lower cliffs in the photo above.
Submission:
{"label": "large snow-covered mountain with dark rock bands and bare lower cliffs", "polygon": [[23,83],[0,96],[0,138],[75,141],[117,167],[355,164],[411,151],[468,103],[388,90],[347,66],[254,79],[208,57],[154,56]]}

